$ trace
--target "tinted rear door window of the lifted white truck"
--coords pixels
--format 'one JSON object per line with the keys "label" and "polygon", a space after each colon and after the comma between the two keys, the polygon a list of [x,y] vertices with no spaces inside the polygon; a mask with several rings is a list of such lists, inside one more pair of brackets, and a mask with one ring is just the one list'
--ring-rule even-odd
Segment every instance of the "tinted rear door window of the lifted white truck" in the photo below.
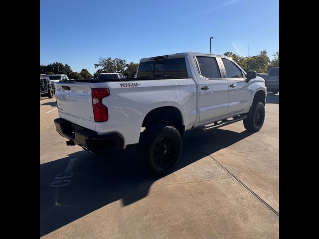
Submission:
{"label": "tinted rear door window of the lifted white truck", "polygon": [[197,56],[196,57],[200,74],[209,79],[220,78],[220,71],[215,57]]}

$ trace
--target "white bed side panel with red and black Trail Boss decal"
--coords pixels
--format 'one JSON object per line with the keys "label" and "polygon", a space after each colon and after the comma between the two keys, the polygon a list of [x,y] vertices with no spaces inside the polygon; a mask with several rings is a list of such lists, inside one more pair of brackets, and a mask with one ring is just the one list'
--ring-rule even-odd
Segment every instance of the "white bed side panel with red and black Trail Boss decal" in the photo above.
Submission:
{"label": "white bed side panel with red and black Trail Boss decal", "polygon": [[196,87],[191,78],[101,82],[90,86],[110,89],[110,96],[103,99],[109,119],[96,122],[96,131],[101,134],[118,132],[124,136],[125,145],[139,142],[143,120],[156,108],[177,108],[185,129],[196,119]]}

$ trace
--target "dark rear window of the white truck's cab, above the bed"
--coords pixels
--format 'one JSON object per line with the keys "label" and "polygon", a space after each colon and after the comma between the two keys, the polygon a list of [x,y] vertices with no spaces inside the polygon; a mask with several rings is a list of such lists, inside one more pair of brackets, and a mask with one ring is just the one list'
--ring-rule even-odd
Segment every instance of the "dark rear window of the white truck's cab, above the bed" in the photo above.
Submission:
{"label": "dark rear window of the white truck's cab, above the bed", "polygon": [[141,62],[137,78],[188,78],[185,58]]}

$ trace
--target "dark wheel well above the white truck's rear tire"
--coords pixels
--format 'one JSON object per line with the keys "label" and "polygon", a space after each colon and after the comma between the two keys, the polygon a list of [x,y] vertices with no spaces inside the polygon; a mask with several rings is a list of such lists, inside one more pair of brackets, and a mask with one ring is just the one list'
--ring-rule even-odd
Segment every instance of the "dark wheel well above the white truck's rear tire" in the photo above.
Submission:
{"label": "dark wheel well above the white truck's rear tire", "polygon": [[184,125],[179,110],[172,106],[164,106],[150,111],[143,120],[142,127],[152,127],[155,124],[174,126],[183,137]]}

